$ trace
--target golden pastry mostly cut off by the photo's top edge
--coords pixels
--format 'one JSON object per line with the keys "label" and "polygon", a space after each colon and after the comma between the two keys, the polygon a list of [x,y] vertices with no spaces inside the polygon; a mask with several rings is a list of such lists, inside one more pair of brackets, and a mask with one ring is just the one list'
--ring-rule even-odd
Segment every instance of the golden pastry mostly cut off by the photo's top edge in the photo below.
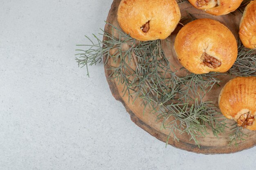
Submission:
{"label": "golden pastry mostly cut off by the photo's top edge", "polygon": [[189,0],[197,9],[203,9],[212,15],[226,15],[235,11],[243,0]]}

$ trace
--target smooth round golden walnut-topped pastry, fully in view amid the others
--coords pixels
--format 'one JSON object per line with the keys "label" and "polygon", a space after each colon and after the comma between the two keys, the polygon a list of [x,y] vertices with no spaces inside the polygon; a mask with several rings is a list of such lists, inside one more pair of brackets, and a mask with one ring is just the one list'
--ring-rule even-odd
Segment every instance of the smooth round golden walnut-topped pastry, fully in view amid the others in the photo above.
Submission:
{"label": "smooth round golden walnut-topped pastry, fully in view amid the others", "polygon": [[226,72],[238,55],[236,38],[216,20],[198,19],[186,24],[175,38],[177,58],[195,74]]}

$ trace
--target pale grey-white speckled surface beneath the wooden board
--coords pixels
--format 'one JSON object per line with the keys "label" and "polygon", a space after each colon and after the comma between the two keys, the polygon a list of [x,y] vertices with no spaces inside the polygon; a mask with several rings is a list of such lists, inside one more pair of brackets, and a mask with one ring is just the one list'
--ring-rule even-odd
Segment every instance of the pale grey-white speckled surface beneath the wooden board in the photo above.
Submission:
{"label": "pale grey-white speckled surface beneath the wooden board", "polygon": [[[252,170],[256,148],[199,155],[137,127],[103,64],[74,60],[112,0],[0,2],[0,170]],[[92,36],[90,36],[92,37]]]}

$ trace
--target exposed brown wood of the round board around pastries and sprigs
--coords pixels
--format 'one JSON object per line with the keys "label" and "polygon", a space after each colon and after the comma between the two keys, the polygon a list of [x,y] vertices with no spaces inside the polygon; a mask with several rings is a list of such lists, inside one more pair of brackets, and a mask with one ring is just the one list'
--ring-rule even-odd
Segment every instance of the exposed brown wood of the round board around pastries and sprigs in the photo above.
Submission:
{"label": "exposed brown wood of the round board around pastries and sprigs", "polygon": [[[108,18],[106,20],[107,23],[117,26],[117,28],[119,29],[121,28],[119,27],[119,24],[117,22],[117,10],[120,2],[121,0],[113,1],[111,9],[108,14]],[[238,38],[239,22],[242,16],[241,13],[235,11],[234,13],[230,13],[228,15],[213,16],[208,13],[205,13],[202,10],[195,9],[191,4],[188,3],[182,3],[179,6],[182,13],[182,17],[186,17],[188,15],[187,13],[189,12],[193,14],[195,18],[198,19],[211,18],[218,20],[225,24],[236,36],[236,38]],[[166,57],[170,58],[172,64],[174,64],[177,68],[180,68],[181,66],[180,63],[176,60],[173,44],[175,36],[177,35],[181,27],[181,25],[177,26],[175,31],[167,38],[168,41],[162,40],[162,48],[164,50]],[[108,33],[112,33],[111,26],[106,24],[105,31]],[[106,40],[106,37],[104,37],[103,40]],[[145,114],[143,115],[144,106],[141,106],[142,99],[137,98],[134,104],[132,104],[132,102],[128,102],[128,95],[124,95],[124,93],[122,92],[124,85],[118,84],[114,79],[110,79],[111,71],[108,68],[114,65],[110,60],[106,61],[106,59],[107,57],[104,56],[104,63],[106,63],[105,73],[112,95],[115,97],[115,99],[122,102],[127,112],[130,114],[131,120],[135,124],[137,124],[137,126],[146,130],[146,132],[156,137],[157,139],[166,142],[169,134],[168,130],[160,129],[162,122],[160,120],[156,121],[157,115],[150,114],[149,110],[148,113],[145,112]],[[216,104],[216,106],[218,106],[218,94],[220,93],[221,88],[231,79],[231,77],[228,75],[221,76],[218,78],[222,80],[222,82],[220,83],[220,87],[213,88],[205,98],[208,101],[212,101],[214,104]],[[228,121],[228,124],[234,124],[234,121],[230,120]],[[168,140],[168,144],[176,148],[203,154],[233,153],[244,149],[252,148],[253,146],[256,145],[256,132],[249,131],[247,129],[245,129],[244,132],[248,135],[247,137],[245,137],[247,140],[240,142],[238,146],[228,146],[230,132],[226,132],[225,134],[220,135],[219,138],[216,138],[212,135],[210,131],[210,135],[198,139],[201,142],[200,148],[196,146],[193,141],[190,141],[190,137],[185,133],[182,135],[177,134],[177,137],[180,139],[180,141],[173,140],[173,136],[171,136]]]}

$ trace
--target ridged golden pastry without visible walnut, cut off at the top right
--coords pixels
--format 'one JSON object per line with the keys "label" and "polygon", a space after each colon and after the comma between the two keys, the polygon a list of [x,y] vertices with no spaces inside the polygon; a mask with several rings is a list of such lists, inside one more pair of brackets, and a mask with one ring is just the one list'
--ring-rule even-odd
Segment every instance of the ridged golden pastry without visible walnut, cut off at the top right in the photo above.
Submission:
{"label": "ridged golden pastry without visible walnut, cut off at the top right", "polygon": [[245,47],[256,49],[256,0],[251,1],[245,8],[239,35]]}

